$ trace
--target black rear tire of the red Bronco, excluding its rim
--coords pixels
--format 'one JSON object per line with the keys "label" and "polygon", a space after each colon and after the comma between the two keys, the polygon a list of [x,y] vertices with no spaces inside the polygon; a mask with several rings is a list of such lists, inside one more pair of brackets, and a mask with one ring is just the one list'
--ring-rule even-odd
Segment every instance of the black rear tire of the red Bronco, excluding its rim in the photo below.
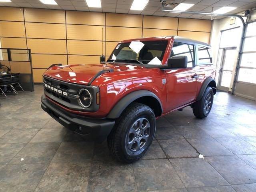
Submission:
{"label": "black rear tire of the red Bronco, excluding its rim", "polygon": [[[209,94],[211,96],[211,99],[210,99],[211,103],[209,106],[209,110],[206,111],[204,106],[206,104],[206,99],[209,97]],[[209,115],[210,110],[212,109],[213,95],[214,95],[214,93],[213,93],[212,88],[207,87],[206,90],[204,91],[202,98],[193,104],[193,106],[192,106],[193,113],[197,118],[204,119]]]}

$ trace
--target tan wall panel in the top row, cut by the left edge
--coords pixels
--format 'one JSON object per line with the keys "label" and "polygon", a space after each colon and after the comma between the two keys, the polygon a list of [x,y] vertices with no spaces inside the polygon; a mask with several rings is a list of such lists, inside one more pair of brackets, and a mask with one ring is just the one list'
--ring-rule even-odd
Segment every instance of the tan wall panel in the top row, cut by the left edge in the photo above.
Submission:
{"label": "tan wall panel in the top row, cut by the left edge", "polygon": [[0,7],[0,20],[24,21],[23,10],[18,7]]}

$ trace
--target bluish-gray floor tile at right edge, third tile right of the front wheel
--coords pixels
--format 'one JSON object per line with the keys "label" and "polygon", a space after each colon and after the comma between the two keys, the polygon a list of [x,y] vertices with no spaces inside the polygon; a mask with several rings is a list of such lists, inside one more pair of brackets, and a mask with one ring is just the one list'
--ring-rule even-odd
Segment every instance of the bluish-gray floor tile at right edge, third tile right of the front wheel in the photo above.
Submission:
{"label": "bluish-gray floor tile at right edge, third tile right of the front wheel", "polygon": [[239,137],[215,139],[236,155],[256,154],[256,147],[242,140]]}

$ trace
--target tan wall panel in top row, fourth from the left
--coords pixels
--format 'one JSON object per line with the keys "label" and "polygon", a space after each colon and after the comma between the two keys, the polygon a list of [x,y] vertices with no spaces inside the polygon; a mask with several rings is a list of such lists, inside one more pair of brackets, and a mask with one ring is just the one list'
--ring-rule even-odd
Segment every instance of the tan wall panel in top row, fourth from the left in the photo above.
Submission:
{"label": "tan wall panel in top row, fourth from the left", "polygon": [[106,26],[142,28],[142,15],[106,13]]}

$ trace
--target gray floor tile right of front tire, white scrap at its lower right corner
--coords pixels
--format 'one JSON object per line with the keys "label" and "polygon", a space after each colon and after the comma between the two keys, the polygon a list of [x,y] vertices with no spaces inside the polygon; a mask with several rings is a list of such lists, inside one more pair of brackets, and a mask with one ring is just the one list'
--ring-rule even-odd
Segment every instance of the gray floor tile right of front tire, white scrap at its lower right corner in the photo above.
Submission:
{"label": "gray floor tile right of front tire, white scrap at its lower right corner", "polygon": [[168,158],[197,157],[199,154],[185,139],[159,140]]}

